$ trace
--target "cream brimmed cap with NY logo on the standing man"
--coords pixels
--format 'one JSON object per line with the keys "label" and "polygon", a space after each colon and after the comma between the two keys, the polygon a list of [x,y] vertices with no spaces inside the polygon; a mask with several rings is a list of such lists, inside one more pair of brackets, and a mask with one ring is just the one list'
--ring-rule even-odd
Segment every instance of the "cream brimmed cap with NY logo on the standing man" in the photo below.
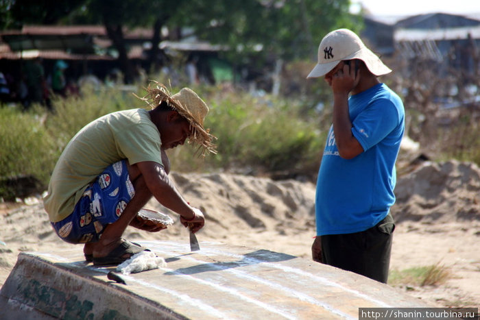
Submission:
{"label": "cream brimmed cap with NY logo on the standing man", "polygon": [[374,75],[392,72],[362,40],[349,29],[337,29],[327,34],[318,47],[318,63],[307,78],[322,77],[333,70],[341,60],[360,59]]}

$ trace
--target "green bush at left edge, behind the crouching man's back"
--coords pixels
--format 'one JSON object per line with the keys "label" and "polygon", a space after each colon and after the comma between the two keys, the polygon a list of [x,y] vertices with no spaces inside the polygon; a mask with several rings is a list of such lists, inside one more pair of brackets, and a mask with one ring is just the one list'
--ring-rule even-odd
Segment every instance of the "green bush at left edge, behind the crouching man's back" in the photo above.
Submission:
{"label": "green bush at left edge, behind the crouching man's back", "polygon": [[12,199],[18,177],[38,180],[45,190],[51,171],[69,140],[84,125],[99,116],[143,106],[130,92],[112,88],[90,88],[82,97],[53,99],[53,112],[34,106],[29,112],[0,109],[0,197]]}

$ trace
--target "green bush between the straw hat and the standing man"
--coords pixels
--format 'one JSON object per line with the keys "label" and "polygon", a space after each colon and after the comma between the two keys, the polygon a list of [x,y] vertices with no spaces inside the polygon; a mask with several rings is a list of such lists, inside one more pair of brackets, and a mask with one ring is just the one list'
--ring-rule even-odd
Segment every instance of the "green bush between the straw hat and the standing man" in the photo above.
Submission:
{"label": "green bush between the straw hat and the standing man", "polygon": [[172,170],[222,169],[255,175],[311,175],[315,179],[324,135],[318,119],[302,116],[302,106],[241,92],[204,91],[200,96],[211,107],[205,126],[218,138],[218,154],[198,159],[191,157],[191,148],[169,151]]}

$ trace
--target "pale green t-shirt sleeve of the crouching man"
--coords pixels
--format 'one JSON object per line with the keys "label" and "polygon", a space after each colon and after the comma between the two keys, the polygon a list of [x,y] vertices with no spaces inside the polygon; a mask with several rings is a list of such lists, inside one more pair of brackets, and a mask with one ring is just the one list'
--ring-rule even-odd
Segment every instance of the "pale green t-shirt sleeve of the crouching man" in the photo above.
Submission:
{"label": "pale green t-shirt sleeve of the crouching man", "polygon": [[162,164],[160,156],[160,135],[152,125],[136,123],[127,130],[117,132],[117,148],[119,153],[128,159],[130,164],[153,161]]}

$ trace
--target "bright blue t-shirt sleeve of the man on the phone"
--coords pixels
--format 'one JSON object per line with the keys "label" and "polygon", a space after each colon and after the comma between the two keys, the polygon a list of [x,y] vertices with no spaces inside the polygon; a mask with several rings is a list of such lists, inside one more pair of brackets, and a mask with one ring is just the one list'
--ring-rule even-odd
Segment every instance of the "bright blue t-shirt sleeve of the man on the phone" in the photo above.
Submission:
{"label": "bright blue t-shirt sleeve of the man on the phone", "polygon": [[378,99],[370,103],[352,123],[352,134],[367,151],[398,125],[398,112],[392,101]]}

